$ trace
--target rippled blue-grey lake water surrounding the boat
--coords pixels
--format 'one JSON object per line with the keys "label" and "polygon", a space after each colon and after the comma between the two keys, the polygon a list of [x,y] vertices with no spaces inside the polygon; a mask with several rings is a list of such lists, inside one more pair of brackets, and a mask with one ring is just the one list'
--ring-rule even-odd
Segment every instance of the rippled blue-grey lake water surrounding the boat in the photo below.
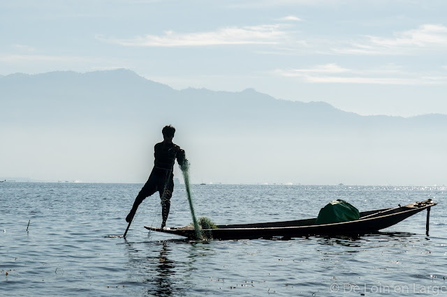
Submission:
{"label": "rippled blue-grey lake water surrounding the boat", "polygon": [[[125,240],[141,186],[0,183],[0,295],[447,295],[446,187],[192,186],[196,215],[216,224],[314,218],[335,199],[366,211],[431,198],[430,236],[423,211],[360,238],[184,241],[143,227],[161,224],[156,193]],[[171,201],[167,226],[189,224],[184,185]]]}

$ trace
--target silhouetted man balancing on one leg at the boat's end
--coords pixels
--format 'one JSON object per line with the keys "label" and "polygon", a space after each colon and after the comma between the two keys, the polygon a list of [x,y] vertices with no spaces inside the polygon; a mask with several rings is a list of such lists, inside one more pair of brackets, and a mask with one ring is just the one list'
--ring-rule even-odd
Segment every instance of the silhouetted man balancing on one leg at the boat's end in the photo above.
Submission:
{"label": "silhouetted man balancing on one leg at the boat's end", "polygon": [[166,125],[161,132],[163,133],[163,142],[159,142],[154,147],[154,168],[149,179],[147,179],[147,182],[135,198],[132,209],[126,217],[126,222],[133,220],[138,206],[146,197],[159,191],[163,217],[161,228],[164,228],[166,225],[166,220],[169,215],[170,197],[173,196],[174,190],[173,167],[175,159],[177,159],[177,162],[182,168],[188,165],[188,160],[185,158],[184,150],[173,143],[175,128],[172,125]]}

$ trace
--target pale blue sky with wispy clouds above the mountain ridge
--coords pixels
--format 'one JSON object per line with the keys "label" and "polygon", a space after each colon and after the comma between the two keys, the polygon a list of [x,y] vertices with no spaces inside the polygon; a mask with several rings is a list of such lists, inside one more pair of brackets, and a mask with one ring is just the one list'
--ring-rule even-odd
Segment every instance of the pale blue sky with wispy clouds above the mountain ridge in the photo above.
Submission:
{"label": "pale blue sky with wispy clouds above the mountain ridge", "polygon": [[128,68],[358,114],[447,114],[447,2],[0,2],[0,75]]}

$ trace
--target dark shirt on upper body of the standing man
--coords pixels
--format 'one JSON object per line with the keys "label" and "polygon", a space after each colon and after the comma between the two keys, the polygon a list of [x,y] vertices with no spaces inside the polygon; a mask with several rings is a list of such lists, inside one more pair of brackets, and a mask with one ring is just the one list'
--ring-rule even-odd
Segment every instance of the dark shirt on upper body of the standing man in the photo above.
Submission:
{"label": "dark shirt on upper body of the standing man", "polygon": [[183,165],[183,162],[186,160],[184,150],[177,144],[159,142],[155,145],[154,151],[154,167],[159,169],[172,171],[176,158],[179,165]]}

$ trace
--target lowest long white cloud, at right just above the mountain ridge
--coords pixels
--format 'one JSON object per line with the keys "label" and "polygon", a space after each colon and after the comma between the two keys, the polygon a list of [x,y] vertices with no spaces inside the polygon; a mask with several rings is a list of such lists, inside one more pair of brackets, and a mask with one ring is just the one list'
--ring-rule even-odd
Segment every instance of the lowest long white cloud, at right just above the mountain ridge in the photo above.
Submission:
{"label": "lowest long white cloud, at right just above the mountain ridge", "polygon": [[276,69],[274,75],[297,77],[309,83],[335,84],[395,84],[395,85],[426,85],[446,84],[447,76],[434,74],[411,73],[402,70],[400,66],[386,65],[379,68],[349,69],[335,63],[318,65],[306,69]]}

